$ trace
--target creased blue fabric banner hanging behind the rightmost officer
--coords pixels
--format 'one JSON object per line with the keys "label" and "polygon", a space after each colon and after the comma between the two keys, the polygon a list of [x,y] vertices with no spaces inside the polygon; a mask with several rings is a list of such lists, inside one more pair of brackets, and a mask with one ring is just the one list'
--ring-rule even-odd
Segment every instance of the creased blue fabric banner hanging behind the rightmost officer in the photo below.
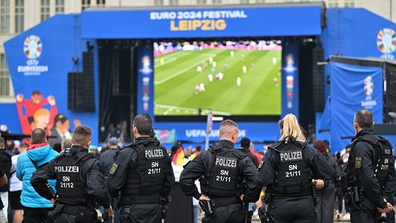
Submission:
{"label": "creased blue fabric banner hanging behind the rightmost officer", "polygon": [[340,151],[355,136],[353,116],[360,109],[373,112],[382,123],[382,68],[331,63],[331,147]]}

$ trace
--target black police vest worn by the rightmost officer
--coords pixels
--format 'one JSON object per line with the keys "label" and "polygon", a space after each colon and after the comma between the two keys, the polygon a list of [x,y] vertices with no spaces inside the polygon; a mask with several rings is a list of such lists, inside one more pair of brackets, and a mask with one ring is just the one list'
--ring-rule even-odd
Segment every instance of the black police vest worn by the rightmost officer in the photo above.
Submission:
{"label": "black police vest worn by the rightmost officer", "polygon": [[[383,187],[385,183],[385,178],[386,176],[388,176],[389,164],[391,164],[391,161],[393,159],[391,142],[381,136],[360,136],[352,142],[351,151],[355,150],[356,143],[358,142],[368,142],[377,150],[377,157],[373,162],[373,171],[374,176],[378,180],[378,184],[380,184],[380,187]],[[358,169],[355,168],[360,167],[361,163],[359,164],[356,162],[362,162],[362,160],[348,160],[348,185],[350,187],[362,186],[362,182],[360,181],[358,174]]]}

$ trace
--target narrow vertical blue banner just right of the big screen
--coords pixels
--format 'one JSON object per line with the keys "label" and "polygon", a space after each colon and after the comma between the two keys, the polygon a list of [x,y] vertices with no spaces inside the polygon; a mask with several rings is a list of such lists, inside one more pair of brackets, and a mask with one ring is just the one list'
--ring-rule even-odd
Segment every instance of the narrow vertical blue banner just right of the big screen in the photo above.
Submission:
{"label": "narrow vertical blue banner just right of the big screen", "polygon": [[285,45],[282,50],[282,117],[298,114],[298,42]]}

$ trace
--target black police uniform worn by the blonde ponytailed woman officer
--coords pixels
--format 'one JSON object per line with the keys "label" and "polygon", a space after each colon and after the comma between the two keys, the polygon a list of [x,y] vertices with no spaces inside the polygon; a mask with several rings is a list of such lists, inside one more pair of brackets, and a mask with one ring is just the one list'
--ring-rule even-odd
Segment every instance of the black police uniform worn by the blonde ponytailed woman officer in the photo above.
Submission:
{"label": "black police uniform worn by the blonde ponytailed woman officer", "polygon": [[257,181],[267,187],[268,210],[276,222],[316,222],[311,180],[334,175],[325,157],[306,142],[279,141],[265,153]]}

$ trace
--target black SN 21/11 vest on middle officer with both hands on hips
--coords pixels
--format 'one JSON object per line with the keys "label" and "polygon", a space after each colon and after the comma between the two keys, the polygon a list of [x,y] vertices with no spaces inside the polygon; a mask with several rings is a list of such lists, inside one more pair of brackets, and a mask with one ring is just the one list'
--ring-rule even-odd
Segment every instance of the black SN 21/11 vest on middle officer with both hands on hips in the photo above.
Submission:
{"label": "black SN 21/11 vest on middle officer with both hands on hips", "polygon": [[199,180],[201,191],[206,195],[222,197],[241,195],[244,185],[241,177],[240,162],[246,155],[237,149],[225,151],[221,146],[208,149],[208,170]]}

